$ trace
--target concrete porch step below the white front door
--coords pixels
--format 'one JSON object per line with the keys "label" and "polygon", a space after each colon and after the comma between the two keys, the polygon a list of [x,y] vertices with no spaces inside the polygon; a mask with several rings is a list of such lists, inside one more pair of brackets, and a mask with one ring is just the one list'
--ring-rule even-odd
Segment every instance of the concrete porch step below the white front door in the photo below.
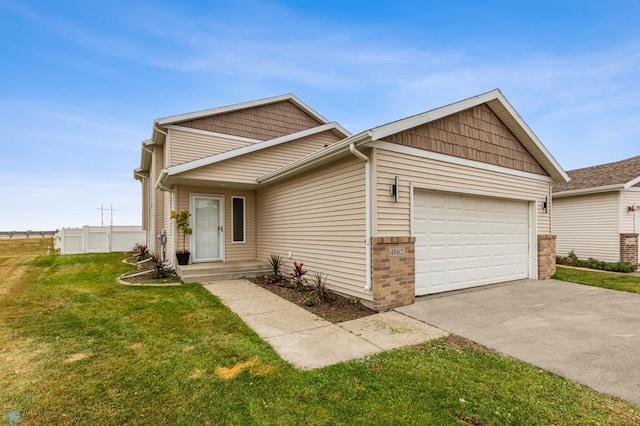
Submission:
{"label": "concrete porch step below the white front door", "polygon": [[266,275],[270,271],[263,262],[215,262],[176,265],[176,273],[185,283],[234,280]]}

